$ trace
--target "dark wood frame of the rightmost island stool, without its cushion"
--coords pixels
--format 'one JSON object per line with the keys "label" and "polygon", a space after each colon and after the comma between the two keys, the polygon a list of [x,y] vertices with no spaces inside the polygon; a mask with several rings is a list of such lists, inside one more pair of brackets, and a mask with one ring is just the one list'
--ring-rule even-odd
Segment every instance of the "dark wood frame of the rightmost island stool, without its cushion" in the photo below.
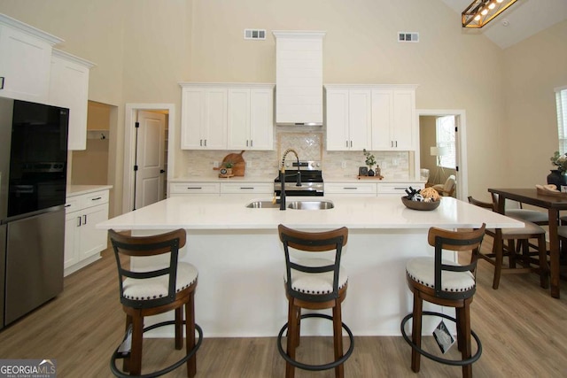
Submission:
{"label": "dark wood frame of the rightmost island stool, without its cushion", "polygon": [[[441,286],[441,276],[443,271],[451,272],[471,272],[476,275],[478,252],[483,236],[485,235],[485,224],[481,228],[473,231],[449,231],[440,228],[430,228],[428,242],[435,247],[435,282],[434,287],[428,287],[420,282],[416,282],[408,274],[406,279],[408,287],[414,294],[413,312],[409,313],[401,320],[400,330],[404,340],[411,345],[411,368],[418,373],[420,369],[420,356],[436,362],[462,366],[462,376],[472,376],[472,363],[477,361],[482,354],[482,343],[477,334],[470,329],[470,304],[476,291],[476,285],[464,291],[445,291]],[[472,251],[470,264],[464,266],[452,266],[442,263],[442,251]],[[423,312],[423,300],[441,306],[454,307],[456,319],[440,312]],[[461,351],[462,359],[442,359],[424,351],[422,343],[422,315],[439,316],[448,320],[453,320],[457,325],[457,345]],[[412,319],[412,337],[408,337],[405,326],[408,320]],[[477,352],[473,355],[470,345],[470,336],[477,343]]]}

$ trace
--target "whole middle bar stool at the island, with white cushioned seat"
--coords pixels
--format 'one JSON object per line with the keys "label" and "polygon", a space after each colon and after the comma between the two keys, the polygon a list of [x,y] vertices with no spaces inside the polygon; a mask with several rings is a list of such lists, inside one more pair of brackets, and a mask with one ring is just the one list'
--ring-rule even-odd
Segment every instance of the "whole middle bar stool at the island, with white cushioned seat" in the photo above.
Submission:
{"label": "whole middle bar stool at the island, with white cushioned seat", "polygon": [[[292,378],[295,367],[303,370],[321,371],[335,369],[336,377],[344,376],[344,363],[353,353],[353,333],[342,322],[341,304],[346,298],[348,277],[340,266],[342,247],[346,245],[348,228],[323,232],[304,232],[278,226],[278,234],[285,253],[285,295],[288,299],[288,321],[277,336],[277,348],[286,361],[285,376]],[[290,250],[299,251],[309,258],[290,258]],[[313,252],[335,251],[334,260],[313,258]],[[307,252],[307,253],[302,253]],[[301,314],[301,309],[322,310],[332,308],[332,317],[322,313]],[[299,346],[299,331],[302,319],[323,318],[333,322],[333,345],[335,360],[324,365],[307,365],[295,359]],[[287,333],[287,352],[283,351],[282,336]],[[343,354],[342,330],[350,338],[348,351]]]}

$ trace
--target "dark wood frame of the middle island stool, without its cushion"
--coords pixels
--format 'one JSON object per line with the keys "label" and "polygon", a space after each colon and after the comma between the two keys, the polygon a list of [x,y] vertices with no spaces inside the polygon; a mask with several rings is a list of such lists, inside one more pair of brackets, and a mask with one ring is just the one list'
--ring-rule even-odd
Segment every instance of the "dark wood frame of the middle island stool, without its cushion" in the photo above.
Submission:
{"label": "dark wood frame of the middle island stool, without its cushion", "polygon": [[[336,377],[344,376],[344,363],[354,349],[354,337],[350,328],[342,322],[341,303],[346,298],[347,283],[341,289],[338,289],[338,274],[340,270],[340,258],[342,247],[346,245],[348,238],[347,228],[338,228],[331,231],[323,232],[303,232],[286,228],[283,225],[278,226],[278,234],[283,243],[283,251],[285,253],[285,269],[286,282],[285,295],[289,303],[288,322],[283,325],[277,336],[277,349],[285,359],[285,376],[292,378],[295,374],[295,367],[309,371],[321,371],[331,368],[335,369]],[[334,264],[329,266],[302,266],[290,259],[289,247],[298,251],[322,252],[335,250]],[[305,273],[325,273],[333,272],[333,289],[328,294],[308,294],[293,289],[291,285],[291,269]],[[322,313],[301,314],[301,309],[322,310],[332,308],[333,316]],[[306,318],[322,318],[332,320],[333,322],[333,344],[335,360],[329,364],[308,365],[301,363],[295,359],[295,350],[299,346],[300,324],[302,319]],[[287,352],[283,351],[282,336],[285,330],[287,335]],[[350,339],[350,346],[346,353],[343,353],[343,335],[342,330],[345,329]]]}

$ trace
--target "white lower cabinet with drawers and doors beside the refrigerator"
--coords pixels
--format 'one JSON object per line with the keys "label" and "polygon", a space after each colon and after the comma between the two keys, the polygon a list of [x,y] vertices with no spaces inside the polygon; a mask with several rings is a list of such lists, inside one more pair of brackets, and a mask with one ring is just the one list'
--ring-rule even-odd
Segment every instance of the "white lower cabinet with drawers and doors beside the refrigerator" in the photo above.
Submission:
{"label": "white lower cabinet with drawers and doors beside the refrigerator", "polygon": [[108,189],[68,196],[65,218],[65,275],[100,258],[107,233],[95,226],[108,220]]}

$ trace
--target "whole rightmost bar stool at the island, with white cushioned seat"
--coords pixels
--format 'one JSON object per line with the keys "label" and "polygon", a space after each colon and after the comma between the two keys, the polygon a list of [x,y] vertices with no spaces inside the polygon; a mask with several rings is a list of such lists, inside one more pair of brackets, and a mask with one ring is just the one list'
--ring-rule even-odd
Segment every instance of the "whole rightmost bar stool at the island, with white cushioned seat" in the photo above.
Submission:
{"label": "whole rightmost bar stool at the island, with white cushioned seat", "polygon": [[[413,312],[401,320],[401,335],[412,347],[411,368],[418,373],[420,357],[425,356],[442,364],[462,366],[462,376],[472,376],[472,363],[480,358],[482,344],[477,334],[470,329],[470,303],[476,290],[476,268],[478,251],[485,235],[485,224],[473,231],[448,231],[430,228],[428,243],[435,247],[435,257],[413,258],[406,266],[408,287],[414,294]],[[443,250],[471,251],[470,264],[461,266],[442,258]],[[447,307],[454,307],[456,318],[444,313],[423,311],[423,300]],[[462,359],[442,359],[421,347],[422,315],[439,316],[452,320],[457,325],[457,343]],[[406,333],[406,323],[413,319],[412,337]],[[472,355],[470,336],[477,343],[477,352]]]}

